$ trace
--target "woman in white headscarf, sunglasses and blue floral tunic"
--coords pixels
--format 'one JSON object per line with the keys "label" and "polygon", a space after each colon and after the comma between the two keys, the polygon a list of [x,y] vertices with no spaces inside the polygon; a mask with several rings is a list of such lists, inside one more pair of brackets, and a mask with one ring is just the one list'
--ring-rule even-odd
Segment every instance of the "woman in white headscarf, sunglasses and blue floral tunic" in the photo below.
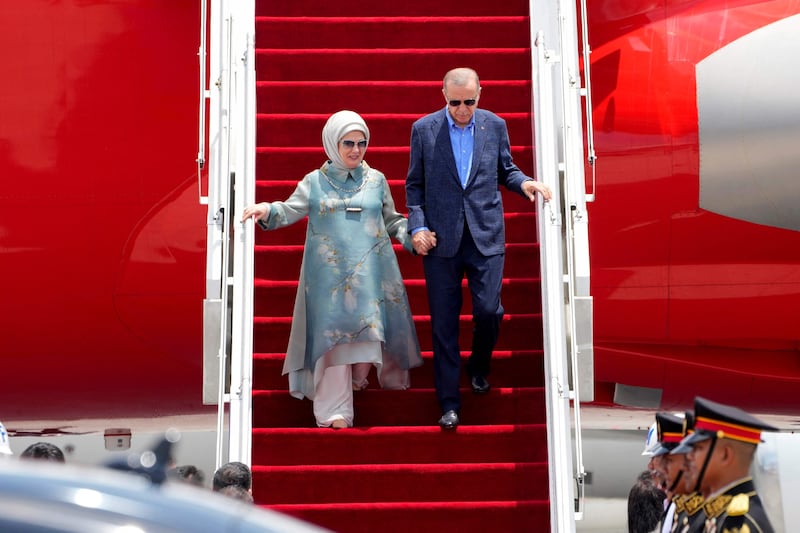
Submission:
{"label": "woman in white headscarf, sunglasses and blue floral tunic", "polygon": [[265,230],[308,216],[292,330],[283,373],[289,391],[314,402],[320,427],[353,425],[353,390],[372,366],[383,388],[406,389],[422,364],[414,322],[390,237],[411,252],[406,218],[386,177],[363,160],[369,129],[352,111],[322,130],[328,161],[285,202],[249,206]]}

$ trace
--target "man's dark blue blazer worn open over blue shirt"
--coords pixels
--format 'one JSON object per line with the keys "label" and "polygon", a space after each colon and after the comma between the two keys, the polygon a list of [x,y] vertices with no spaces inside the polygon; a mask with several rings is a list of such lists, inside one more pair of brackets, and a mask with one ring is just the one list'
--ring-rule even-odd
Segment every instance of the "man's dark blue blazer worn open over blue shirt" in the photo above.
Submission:
{"label": "man's dark blue blazer worn open over blue shirt", "polygon": [[523,194],[522,182],[531,178],[511,159],[505,121],[476,109],[472,169],[466,189],[462,188],[445,113],[443,109],[426,115],[411,127],[406,178],[409,232],[427,226],[436,232],[437,241],[429,254],[453,257],[466,219],[478,250],[483,255],[501,254],[505,224],[499,186]]}

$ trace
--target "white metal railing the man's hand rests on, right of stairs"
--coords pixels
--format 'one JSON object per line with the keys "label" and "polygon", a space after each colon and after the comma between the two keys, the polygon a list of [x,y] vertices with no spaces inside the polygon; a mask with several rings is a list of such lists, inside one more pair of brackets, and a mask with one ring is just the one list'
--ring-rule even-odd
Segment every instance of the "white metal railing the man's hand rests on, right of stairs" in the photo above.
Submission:
{"label": "white metal railing the man's hand rests on, right of stairs", "polygon": [[[588,90],[581,87],[574,2],[532,1],[530,20],[536,172],[554,193],[553,199],[541,206],[537,224],[551,530],[563,532],[574,531],[575,520],[583,518],[580,402],[593,396],[592,298],[580,105],[581,96],[588,97]],[[585,26],[585,18],[583,21]],[[584,33],[584,51],[587,49]],[[584,59],[588,71],[586,52]],[[590,109],[587,107],[587,111]],[[589,146],[593,164],[593,143]]]}

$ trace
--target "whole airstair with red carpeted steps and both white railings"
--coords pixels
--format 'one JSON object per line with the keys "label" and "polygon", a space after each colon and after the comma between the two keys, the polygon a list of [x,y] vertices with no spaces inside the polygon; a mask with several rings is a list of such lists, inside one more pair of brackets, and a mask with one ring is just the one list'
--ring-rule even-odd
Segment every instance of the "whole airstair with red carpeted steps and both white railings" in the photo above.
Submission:
{"label": "whole airstair with red carpeted steps and both white railings", "polygon": [[[258,504],[337,531],[572,531],[583,497],[579,403],[592,394],[575,6],[473,1],[457,17],[434,4],[350,7],[340,17],[320,2],[208,6],[205,396],[228,406],[218,463],[252,465]],[[435,425],[421,262],[396,246],[425,364],[410,390],[357,395],[353,430],[320,430],[280,375],[305,224],[267,233],[240,213],[285,199],[322,162],[320,131],[339,109],[365,118],[366,159],[404,211],[410,125],[443,105],[441,77],[461,65],[478,71],[481,104],[507,121],[516,163],[556,191],[535,207],[504,193],[507,316],[493,390],[464,395],[454,434]],[[461,329],[468,346],[468,305]]]}

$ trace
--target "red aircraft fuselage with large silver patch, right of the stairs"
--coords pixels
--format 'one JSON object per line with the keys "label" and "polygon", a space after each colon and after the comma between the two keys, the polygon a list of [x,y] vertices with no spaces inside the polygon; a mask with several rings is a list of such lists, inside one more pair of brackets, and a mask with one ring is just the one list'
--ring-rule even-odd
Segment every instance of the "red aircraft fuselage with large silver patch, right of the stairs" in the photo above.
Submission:
{"label": "red aircraft fuselage with large silver patch, right of the stairs", "polygon": [[[800,305],[800,232],[792,229],[796,210],[784,207],[796,204],[800,188],[787,185],[795,152],[780,150],[800,141],[800,131],[783,118],[776,131],[773,119],[799,113],[793,90],[774,90],[773,80],[785,79],[773,65],[786,70],[791,56],[791,47],[782,51],[787,30],[777,27],[794,24],[798,11],[794,1],[659,3],[646,12],[589,5],[598,381],[660,389],[665,407],[685,406],[700,391],[767,411],[800,407],[787,395],[800,377],[792,311]],[[743,46],[751,39],[758,44]],[[718,55],[729,56],[722,80],[707,66]],[[699,90],[698,79],[711,89]],[[733,80],[750,90],[747,98]],[[743,118],[748,104],[754,109]],[[781,143],[748,159],[742,131]],[[754,162],[742,168],[742,160]]]}

